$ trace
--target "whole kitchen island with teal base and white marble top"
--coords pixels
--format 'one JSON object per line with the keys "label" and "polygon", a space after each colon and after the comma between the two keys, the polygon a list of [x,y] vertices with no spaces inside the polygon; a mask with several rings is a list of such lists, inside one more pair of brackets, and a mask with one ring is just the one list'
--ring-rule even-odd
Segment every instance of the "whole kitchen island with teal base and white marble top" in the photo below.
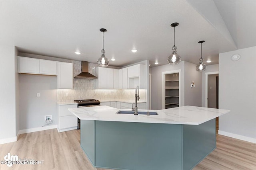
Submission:
{"label": "whole kitchen island with teal base and white marble top", "polygon": [[109,106],[68,110],[81,119],[81,147],[93,166],[126,170],[192,169],[216,148],[215,118],[230,111],[182,106],[148,116]]}

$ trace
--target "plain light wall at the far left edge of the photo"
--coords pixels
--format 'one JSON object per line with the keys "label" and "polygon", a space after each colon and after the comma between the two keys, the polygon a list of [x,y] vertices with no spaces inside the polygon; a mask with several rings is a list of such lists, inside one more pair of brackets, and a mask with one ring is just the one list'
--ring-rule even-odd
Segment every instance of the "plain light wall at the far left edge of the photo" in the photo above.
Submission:
{"label": "plain light wall at the far left edge of the photo", "polygon": [[16,140],[15,47],[0,45],[0,142]]}

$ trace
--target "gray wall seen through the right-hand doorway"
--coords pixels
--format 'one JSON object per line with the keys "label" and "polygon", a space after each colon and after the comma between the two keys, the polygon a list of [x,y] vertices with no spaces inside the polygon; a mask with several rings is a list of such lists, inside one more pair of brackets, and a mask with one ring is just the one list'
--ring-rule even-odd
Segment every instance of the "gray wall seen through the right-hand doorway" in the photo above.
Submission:
{"label": "gray wall seen through the right-hand doorway", "polygon": [[219,74],[210,74],[208,76],[208,107],[216,108],[216,77]]}

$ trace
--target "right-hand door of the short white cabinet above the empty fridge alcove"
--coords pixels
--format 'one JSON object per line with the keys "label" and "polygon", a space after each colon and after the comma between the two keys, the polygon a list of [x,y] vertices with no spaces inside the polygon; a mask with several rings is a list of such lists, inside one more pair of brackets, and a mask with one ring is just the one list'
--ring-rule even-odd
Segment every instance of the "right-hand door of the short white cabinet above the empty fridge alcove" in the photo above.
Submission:
{"label": "right-hand door of the short white cabinet above the empty fridge alcove", "polygon": [[40,74],[57,75],[57,62],[40,60]]}

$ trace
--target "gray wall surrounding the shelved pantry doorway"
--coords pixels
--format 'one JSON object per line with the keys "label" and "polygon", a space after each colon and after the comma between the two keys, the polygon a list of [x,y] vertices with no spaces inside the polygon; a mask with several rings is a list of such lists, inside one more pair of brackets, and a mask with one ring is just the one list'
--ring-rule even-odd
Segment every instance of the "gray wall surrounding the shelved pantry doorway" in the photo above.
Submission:
{"label": "gray wall surrounding the shelved pantry doorway", "polygon": [[177,65],[162,65],[151,68],[151,109],[162,109],[162,72],[181,69],[181,104],[184,106],[184,61]]}

